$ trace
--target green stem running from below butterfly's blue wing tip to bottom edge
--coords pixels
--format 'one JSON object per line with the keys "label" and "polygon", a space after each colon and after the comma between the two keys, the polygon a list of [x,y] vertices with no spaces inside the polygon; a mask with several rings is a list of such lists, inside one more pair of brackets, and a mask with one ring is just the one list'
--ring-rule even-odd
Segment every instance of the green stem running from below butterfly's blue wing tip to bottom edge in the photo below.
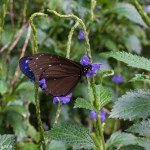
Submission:
{"label": "green stem running from below butterfly's blue wing tip to bottom edge", "polygon": [[39,88],[38,80],[35,81],[34,88],[35,88],[35,103],[36,103],[36,116],[38,120],[38,128],[39,128],[40,135],[41,135],[41,143],[42,143],[43,150],[46,150],[44,130],[42,128],[42,121],[40,117],[40,105],[39,105],[39,100],[38,100],[38,88]]}

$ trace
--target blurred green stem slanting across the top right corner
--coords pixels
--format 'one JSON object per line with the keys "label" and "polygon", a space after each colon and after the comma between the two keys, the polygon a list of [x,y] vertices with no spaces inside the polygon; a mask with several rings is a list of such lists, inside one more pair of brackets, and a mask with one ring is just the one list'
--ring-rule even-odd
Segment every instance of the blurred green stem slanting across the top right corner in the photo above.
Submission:
{"label": "blurred green stem slanting across the top right corner", "polygon": [[135,8],[137,9],[137,11],[139,12],[139,14],[141,15],[143,21],[147,24],[147,26],[150,28],[150,20],[149,17],[147,16],[147,14],[144,12],[142,6],[139,4],[138,0],[133,0],[131,2]]}

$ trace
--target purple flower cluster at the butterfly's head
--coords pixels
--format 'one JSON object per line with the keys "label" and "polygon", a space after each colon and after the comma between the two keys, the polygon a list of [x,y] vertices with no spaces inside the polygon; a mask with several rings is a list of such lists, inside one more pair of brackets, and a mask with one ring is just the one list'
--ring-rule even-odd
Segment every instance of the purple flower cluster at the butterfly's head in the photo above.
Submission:
{"label": "purple flower cluster at the butterfly's head", "polygon": [[96,70],[100,68],[101,65],[103,65],[103,63],[93,63],[91,64],[89,62],[89,58],[87,56],[83,56],[83,60],[80,60],[80,64],[83,66],[87,66],[87,65],[91,65],[92,69],[89,69],[87,74],[90,78],[93,77],[93,75],[95,74]]}

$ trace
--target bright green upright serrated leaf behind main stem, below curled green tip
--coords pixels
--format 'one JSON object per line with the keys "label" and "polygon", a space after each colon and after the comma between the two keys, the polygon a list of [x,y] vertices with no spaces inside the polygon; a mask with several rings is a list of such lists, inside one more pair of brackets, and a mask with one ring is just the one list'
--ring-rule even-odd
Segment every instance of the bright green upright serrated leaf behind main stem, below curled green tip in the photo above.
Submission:
{"label": "bright green upright serrated leaf behind main stem, below curled green tip", "polygon": [[[109,89],[104,88],[101,85],[96,85],[96,94],[97,94],[97,100],[98,100],[97,103],[100,106],[100,109],[111,101],[111,92],[109,91]],[[89,91],[89,96],[94,101],[92,88]]]}

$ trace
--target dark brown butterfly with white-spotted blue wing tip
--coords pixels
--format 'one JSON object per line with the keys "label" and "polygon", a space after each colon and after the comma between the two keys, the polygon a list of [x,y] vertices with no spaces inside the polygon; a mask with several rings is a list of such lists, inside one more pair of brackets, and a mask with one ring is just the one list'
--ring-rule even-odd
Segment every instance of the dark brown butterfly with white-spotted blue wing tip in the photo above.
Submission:
{"label": "dark brown butterfly with white-spotted blue wing tip", "polygon": [[45,79],[46,88],[42,90],[52,96],[66,96],[85,76],[92,65],[81,65],[62,56],[34,54],[20,59],[21,71],[32,81]]}

